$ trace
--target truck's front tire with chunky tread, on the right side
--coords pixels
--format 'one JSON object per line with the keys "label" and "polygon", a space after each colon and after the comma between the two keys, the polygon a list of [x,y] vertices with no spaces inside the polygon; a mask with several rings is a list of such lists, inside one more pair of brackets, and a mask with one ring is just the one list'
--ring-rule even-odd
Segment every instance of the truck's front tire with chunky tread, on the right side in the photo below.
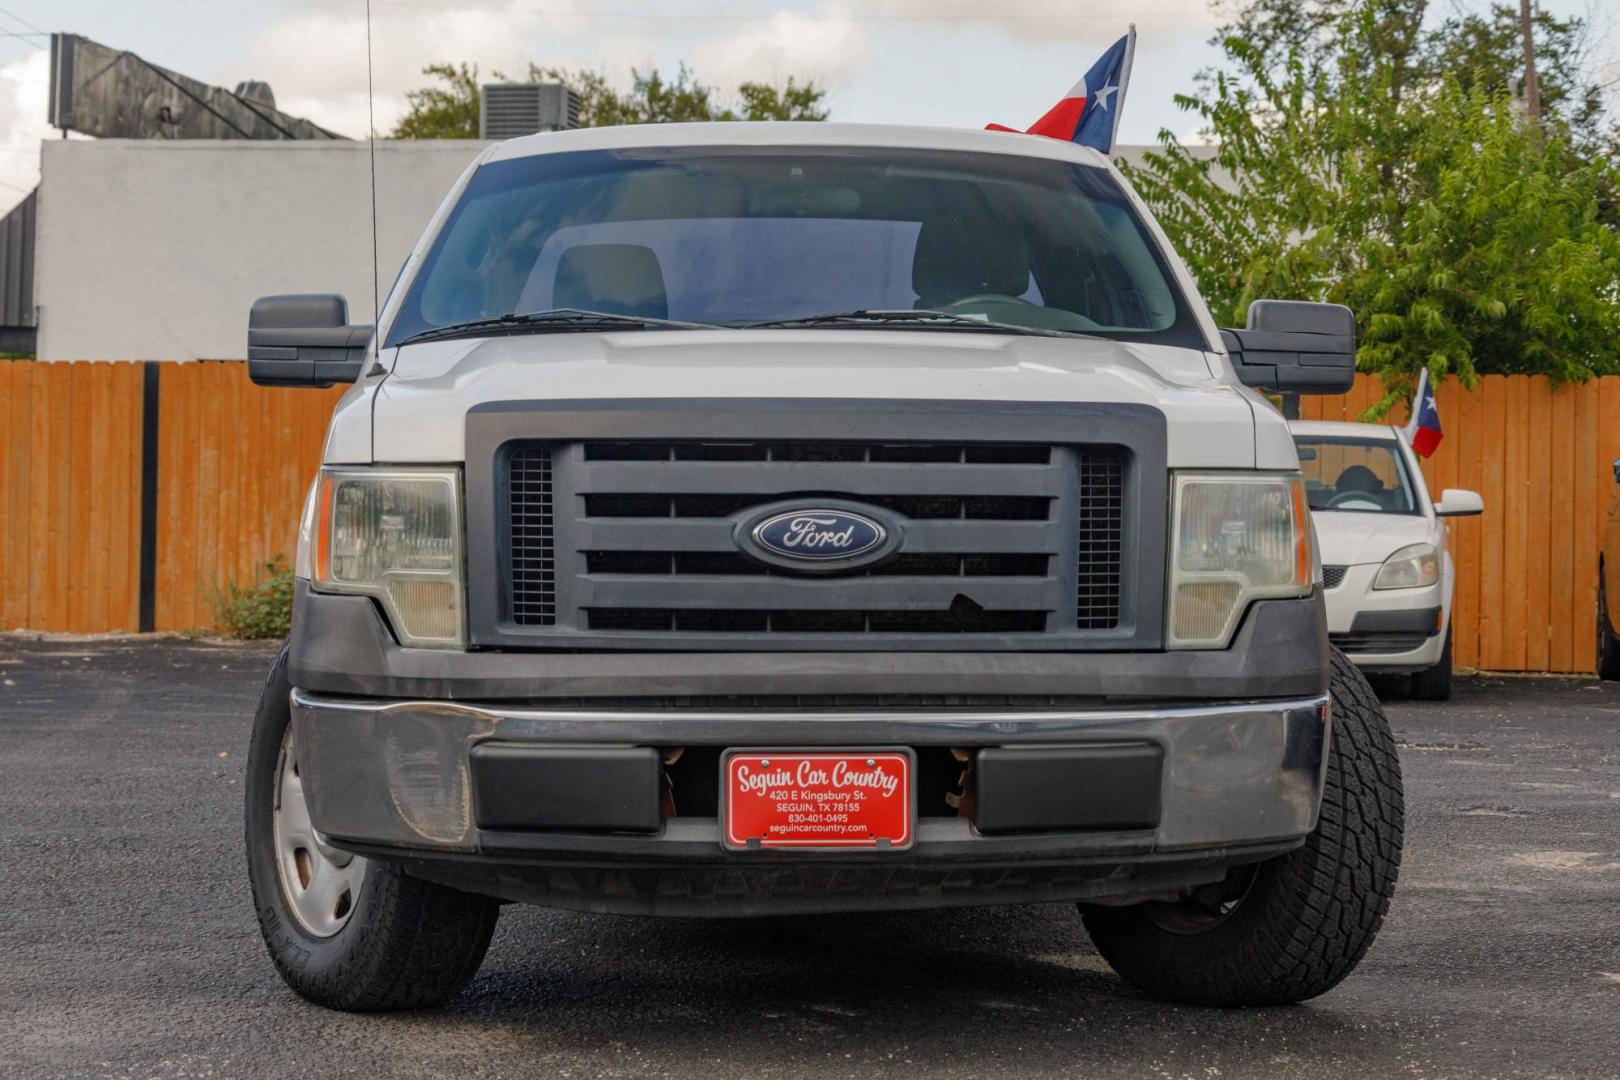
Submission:
{"label": "truck's front tire with chunky tread, on the right side", "polygon": [[1333,649],[1332,740],[1304,845],[1176,904],[1084,907],[1103,959],[1150,997],[1280,1006],[1349,975],[1383,923],[1401,861],[1395,738],[1366,677]]}

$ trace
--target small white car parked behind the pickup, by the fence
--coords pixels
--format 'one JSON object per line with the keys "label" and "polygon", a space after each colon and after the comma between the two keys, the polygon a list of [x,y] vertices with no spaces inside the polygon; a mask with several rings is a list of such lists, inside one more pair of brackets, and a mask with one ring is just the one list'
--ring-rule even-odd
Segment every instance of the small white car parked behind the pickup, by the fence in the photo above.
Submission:
{"label": "small white car parked behind the pickup, by the fence", "polygon": [[1409,674],[1411,695],[1452,696],[1450,531],[1476,492],[1429,497],[1398,427],[1291,421],[1322,552],[1328,638],[1366,672]]}

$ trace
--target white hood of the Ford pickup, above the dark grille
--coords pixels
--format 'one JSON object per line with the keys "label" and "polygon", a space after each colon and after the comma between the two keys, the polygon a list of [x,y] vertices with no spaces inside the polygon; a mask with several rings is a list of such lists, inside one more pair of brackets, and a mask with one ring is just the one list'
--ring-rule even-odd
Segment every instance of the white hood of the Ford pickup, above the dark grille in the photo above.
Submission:
{"label": "white hood of the Ford pickup, above the dark grille", "polygon": [[[1264,400],[1210,374],[1205,353],[1102,338],[909,330],[680,330],[424,342],[382,355],[371,460],[465,460],[467,411],[512,400],[865,398],[1129,402],[1165,413],[1168,463],[1296,468]],[[1218,358],[1215,358],[1218,363]],[[1272,431],[1275,427],[1277,431]],[[353,432],[360,434],[360,432]],[[1016,439],[1017,432],[1008,432]],[[355,447],[334,431],[329,447]],[[1262,458],[1265,452],[1262,452]]]}

